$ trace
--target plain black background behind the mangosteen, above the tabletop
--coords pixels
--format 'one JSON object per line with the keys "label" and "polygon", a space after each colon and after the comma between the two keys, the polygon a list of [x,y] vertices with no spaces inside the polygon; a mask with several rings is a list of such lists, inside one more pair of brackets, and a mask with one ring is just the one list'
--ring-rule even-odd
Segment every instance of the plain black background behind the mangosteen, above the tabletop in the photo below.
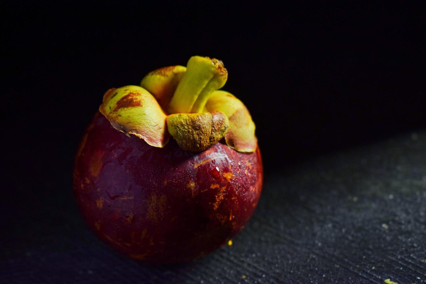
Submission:
{"label": "plain black background behind the mangosteen, above the tabletop", "polygon": [[424,20],[416,11],[7,3],[2,259],[19,267],[29,248],[55,251],[64,235],[86,230],[72,200],[72,164],[102,95],[192,55],[223,60],[223,89],[251,112],[267,181],[316,157],[425,129]]}

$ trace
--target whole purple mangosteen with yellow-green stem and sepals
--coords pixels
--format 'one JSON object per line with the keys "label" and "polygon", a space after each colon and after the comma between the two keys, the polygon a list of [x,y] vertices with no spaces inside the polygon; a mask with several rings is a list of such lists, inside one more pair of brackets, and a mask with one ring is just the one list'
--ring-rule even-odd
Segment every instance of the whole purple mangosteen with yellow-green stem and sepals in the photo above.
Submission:
{"label": "whole purple mangosteen with yellow-green stem and sepals", "polygon": [[[204,75],[183,66],[149,73],[142,85],[152,94],[138,86],[110,89],[78,148],[73,188],[83,217],[130,258],[179,263],[212,252],[244,227],[259,201],[254,123],[240,100],[216,91],[226,81],[223,63],[204,58],[190,59]],[[194,76],[204,87],[192,85]],[[196,111],[167,111],[172,100],[171,109]]]}

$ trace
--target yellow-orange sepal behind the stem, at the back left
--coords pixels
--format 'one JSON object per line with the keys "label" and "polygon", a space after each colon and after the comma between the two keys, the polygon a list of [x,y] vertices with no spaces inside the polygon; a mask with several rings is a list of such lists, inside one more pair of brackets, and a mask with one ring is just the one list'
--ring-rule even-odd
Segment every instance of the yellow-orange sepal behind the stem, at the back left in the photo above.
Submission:
{"label": "yellow-orange sepal behind the stem, at the back left", "polygon": [[150,92],[163,109],[167,109],[186,67],[176,65],[156,69],[141,80],[141,87]]}

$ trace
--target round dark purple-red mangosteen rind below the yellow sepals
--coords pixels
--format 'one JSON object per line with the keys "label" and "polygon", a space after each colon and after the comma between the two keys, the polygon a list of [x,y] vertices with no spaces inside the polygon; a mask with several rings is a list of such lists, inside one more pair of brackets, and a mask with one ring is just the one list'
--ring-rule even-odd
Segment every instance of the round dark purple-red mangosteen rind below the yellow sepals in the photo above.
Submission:
{"label": "round dark purple-red mangosteen rind below the yellow sepals", "polygon": [[131,258],[190,261],[225,244],[252,215],[262,190],[259,148],[216,143],[184,151],[115,130],[97,113],[83,135],[74,194],[99,238]]}

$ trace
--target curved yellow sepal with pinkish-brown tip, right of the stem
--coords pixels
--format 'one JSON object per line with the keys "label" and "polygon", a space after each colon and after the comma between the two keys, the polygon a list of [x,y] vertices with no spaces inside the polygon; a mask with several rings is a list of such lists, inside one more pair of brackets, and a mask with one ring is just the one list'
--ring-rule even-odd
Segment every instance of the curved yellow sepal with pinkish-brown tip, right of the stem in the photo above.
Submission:
{"label": "curved yellow sepal with pinkish-brown tip, right of the stem", "polygon": [[250,113],[241,100],[225,91],[214,91],[207,100],[208,111],[219,110],[229,119],[229,129],[225,134],[228,146],[240,152],[254,152],[257,139],[254,135],[255,125]]}

